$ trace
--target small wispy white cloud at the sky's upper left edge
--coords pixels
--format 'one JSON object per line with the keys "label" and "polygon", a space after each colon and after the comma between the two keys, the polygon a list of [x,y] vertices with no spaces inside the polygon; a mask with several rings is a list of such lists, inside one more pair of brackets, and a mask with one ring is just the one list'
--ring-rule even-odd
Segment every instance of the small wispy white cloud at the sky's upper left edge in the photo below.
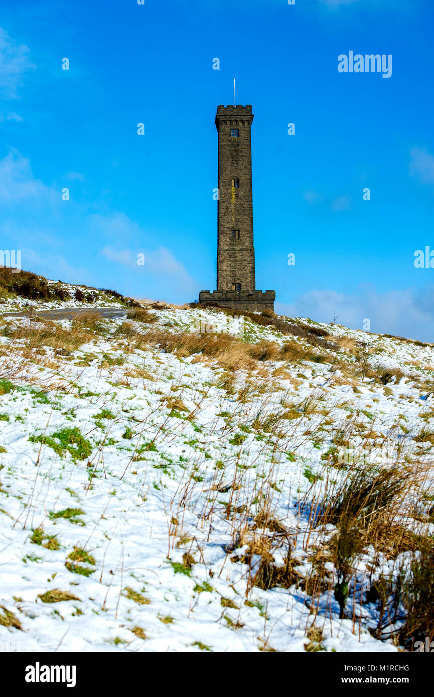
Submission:
{"label": "small wispy white cloud at the sky's upper left edge", "polygon": [[35,68],[29,53],[29,47],[17,44],[0,27],[0,95],[4,98],[16,99],[24,73]]}

